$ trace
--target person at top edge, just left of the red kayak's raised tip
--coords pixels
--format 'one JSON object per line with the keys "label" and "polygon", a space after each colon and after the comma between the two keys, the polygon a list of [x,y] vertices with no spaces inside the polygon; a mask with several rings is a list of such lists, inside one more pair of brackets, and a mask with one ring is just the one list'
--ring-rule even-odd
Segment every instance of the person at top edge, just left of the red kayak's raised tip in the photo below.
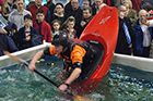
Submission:
{"label": "person at top edge, just left of the red kayak's raised tip", "polygon": [[95,15],[104,5],[104,0],[94,0],[94,4],[92,5],[93,15]]}

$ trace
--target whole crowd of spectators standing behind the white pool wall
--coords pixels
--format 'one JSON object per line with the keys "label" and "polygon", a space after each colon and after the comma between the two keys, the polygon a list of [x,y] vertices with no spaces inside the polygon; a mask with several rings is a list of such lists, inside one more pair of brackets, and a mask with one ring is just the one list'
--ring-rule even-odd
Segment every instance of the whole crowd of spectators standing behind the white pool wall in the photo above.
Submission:
{"label": "whole crowd of spectators standing behind the white pool wall", "polygon": [[[137,2],[136,2],[137,1]],[[79,38],[92,17],[105,5],[118,9],[119,33],[116,53],[149,58],[153,45],[152,3],[149,0],[69,0],[63,5],[47,0],[0,0],[0,55],[27,49],[63,30]],[[111,36],[110,36],[111,37]]]}

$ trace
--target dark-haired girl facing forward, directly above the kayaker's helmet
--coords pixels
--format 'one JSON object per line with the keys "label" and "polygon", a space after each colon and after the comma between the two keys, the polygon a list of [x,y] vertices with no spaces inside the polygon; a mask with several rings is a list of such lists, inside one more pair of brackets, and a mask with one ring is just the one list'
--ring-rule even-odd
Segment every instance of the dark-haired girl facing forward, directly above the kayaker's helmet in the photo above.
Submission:
{"label": "dark-haired girl facing forward, directly above the kayaker's helmet", "polygon": [[61,27],[61,22],[58,21],[58,20],[54,20],[52,23],[51,23],[51,27],[52,27],[52,37],[55,35],[59,35],[59,31],[60,31],[60,27]]}

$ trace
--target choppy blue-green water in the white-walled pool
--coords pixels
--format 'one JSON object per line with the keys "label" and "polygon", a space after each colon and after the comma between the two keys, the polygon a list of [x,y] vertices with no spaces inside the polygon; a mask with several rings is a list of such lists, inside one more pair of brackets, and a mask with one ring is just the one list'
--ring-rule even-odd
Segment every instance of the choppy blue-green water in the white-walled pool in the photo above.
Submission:
{"label": "choppy blue-green water in the white-walled pool", "polygon": [[[57,81],[61,62],[39,63],[38,71]],[[117,64],[98,89],[86,94],[94,101],[153,101],[153,74]],[[56,87],[24,67],[0,71],[0,101],[71,101]]]}

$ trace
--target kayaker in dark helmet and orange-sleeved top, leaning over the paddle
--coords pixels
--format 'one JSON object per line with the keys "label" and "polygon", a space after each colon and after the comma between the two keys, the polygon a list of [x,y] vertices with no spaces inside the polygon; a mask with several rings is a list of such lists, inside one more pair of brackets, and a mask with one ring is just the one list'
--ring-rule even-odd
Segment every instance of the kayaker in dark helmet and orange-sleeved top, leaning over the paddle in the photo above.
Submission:
{"label": "kayaker in dark helmet and orange-sleeved top, leaning over the paddle", "polygon": [[50,47],[36,53],[28,67],[34,71],[36,61],[45,54],[62,58],[66,64],[63,68],[70,72],[70,76],[59,86],[59,90],[66,91],[76,78],[82,79],[86,77],[89,71],[91,72],[90,64],[92,65],[91,62],[96,60],[96,50],[97,48],[91,46],[90,42],[68,39],[68,35],[61,31],[54,37]]}

